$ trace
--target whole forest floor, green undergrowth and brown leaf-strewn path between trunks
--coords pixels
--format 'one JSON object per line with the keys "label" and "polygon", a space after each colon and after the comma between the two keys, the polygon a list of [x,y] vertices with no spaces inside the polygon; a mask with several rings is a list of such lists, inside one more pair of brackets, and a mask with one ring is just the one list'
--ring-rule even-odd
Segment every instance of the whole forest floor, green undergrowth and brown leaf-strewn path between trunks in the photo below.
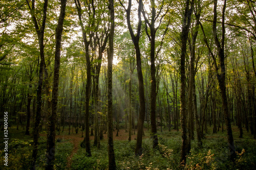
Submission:
{"label": "whole forest floor, green undergrowth and brown leaf-strewn path between trunks", "polygon": [[[62,128],[61,128],[62,130]],[[185,169],[256,169],[256,140],[250,132],[244,130],[243,138],[239,138],[239,129],[232,125],[234,144],[236,145],[237,159],[234,162],[229,161],[229,151],[227,137],[224,126],[216,134],[212,133],[212,127],[208,127],[208,132],[203,139],[203,148],[197,147],[197,139],[191,141],[191,152],[187,157],[187,166]],[[132,135],[132,141],[128,141],[129,133],[125,129],[119,131],[116,136],[116,130],[113,132],[114,150],[116,155],[117,169],[180,169],[179,157],[181,149],[181,132],[176,130],[163,131],[158,129],[159,149],[152,148],[152,139],[150,130],[144,128],[143,136],[143,155],[134,156],[136,145],[136,134]],[[108,144],[107,136],[103,134],[100,141],[101,148],[93,146],[94,136],[90,136],[92,157],[87,157],[87,153],[80,147],[82,131],[79,129],[78,134],[71,130],[68,134],[68,127],[60,135],[56,132],[56,160],[55,169],[107,169],[108,168]],[[19,127],[9,128],[9,149],[8,149],[8,168],[3,169],[28,169],[32,155],[33,137],[25,136],[25,129]],[[83,131],[84,136],[84,131]],[[196,138],[196,134],[195,134]],[[3,139],[0,139],[3,143]],[[4,158],[4,145],[0,147],[0,161]],[[44,169],[46,162],[46,131],[40,133],[38,159],[36,169]],[[244,149],[244,150],[243,150]]]}

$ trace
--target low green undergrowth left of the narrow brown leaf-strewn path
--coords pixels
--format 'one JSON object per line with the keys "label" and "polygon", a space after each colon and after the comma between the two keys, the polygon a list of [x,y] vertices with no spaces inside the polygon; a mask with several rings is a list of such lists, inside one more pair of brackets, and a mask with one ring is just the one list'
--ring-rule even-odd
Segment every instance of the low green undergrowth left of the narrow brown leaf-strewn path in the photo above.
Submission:
{"label": "low green undergrowth left of the narrow brown leaf-strewn path", "polygon": [[[11,139],[8,143],[8,166],[1,169],[23,170],[29,169],[32,161],[33,141],[25,139]],[[68,140],[56,142],[55,169],[65,169],[67,158],[73,149],[73,144]],[[0,151],[0,162],[4,162],[4,150]],[[37,161],[35,169],[45,169],[46,164],[46,137],[39,138]]]}

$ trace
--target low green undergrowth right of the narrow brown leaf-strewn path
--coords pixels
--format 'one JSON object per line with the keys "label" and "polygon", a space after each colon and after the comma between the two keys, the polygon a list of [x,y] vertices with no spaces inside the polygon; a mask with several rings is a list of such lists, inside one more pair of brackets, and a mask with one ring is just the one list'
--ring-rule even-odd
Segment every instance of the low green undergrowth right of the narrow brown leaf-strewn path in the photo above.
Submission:
{"label": "low green undergrowth right of the narrow brown leaf-strewn path", "polygon": [[[166,137],[167,138],[164,138]],[[224,136],[224,135],[223,135]],[[237,158],[229,159],[229,149],[224,137],[203,139],[203,148],[197,147],[197,140],[191,142],[187,164],[180,166],[181,137],[178,132],[159,133],[159,147],[153,149],[150,138],[143,139],[143,154],[135,156],[134,141],[114,141],[117,169],[256,169],[256,146],[254,139],[235,140]],[[92,147],[92,157],[84,149],[73,156],[73,169],[108,169],[106,141],[98,150]]]}

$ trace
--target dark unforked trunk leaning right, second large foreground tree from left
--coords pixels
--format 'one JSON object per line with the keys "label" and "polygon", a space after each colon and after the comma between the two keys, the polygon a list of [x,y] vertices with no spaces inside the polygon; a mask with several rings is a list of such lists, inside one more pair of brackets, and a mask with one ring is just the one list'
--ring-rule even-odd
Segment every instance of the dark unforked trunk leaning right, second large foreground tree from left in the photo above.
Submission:
{"label": "dark unforked trunk leaning right, second large foreground tree from left", "polygon": [[58,89],[59,89],[59,66],[61,52],[61,36],[63,31],[63,22],[66,12],[67,0],[60,1],[60,14],[55,32],[55,60],[54,60],[54,76],[51,107],[52,110],[48,113],[48,131],[47,131],[47,164],[46,169],[54,169],[55,159],[55,129],[57,117]]}

